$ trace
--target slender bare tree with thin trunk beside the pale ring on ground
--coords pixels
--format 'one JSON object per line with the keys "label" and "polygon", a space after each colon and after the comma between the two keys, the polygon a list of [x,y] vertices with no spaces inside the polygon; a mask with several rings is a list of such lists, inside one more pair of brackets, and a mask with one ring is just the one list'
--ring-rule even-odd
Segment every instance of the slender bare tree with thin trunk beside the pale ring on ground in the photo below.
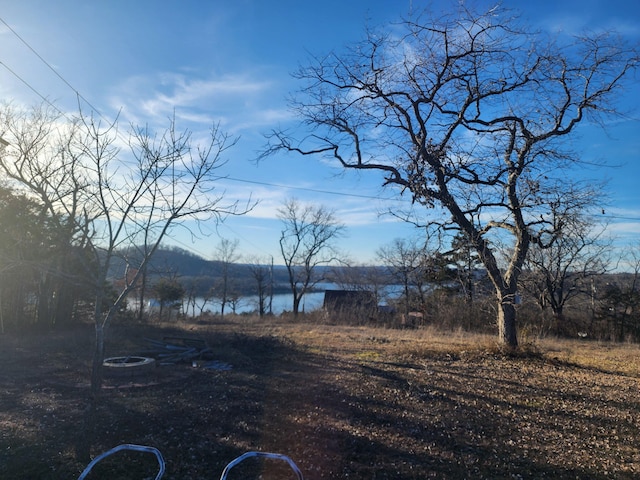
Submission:
{"label": "slender bare tree with thin trunk beside the pale ring on ground", "polygon": [[[35,196],[65,233],[65,241],[86,255],[84,267],[95,292],[95,351],[83,429],[91,435],[105,329],[163,238],[185,219],[242,213],[236,202],[225,203],[214,192],[222,156],[236,140],[213,126],[208,143],[195,146],[190,132],[177,131],[171,119],[161,135],[133,128],[127,154],[117,147],[116,123],[103,127],[81,115],[69,124],[45,109],[24,113],[9,107],[0,118],[1,136],[10,144],[0,157],[0,169]],[[126,271],[112,298],[109,275],[119,252],[126,252]],[[79,444],[79,455],[87,457],[90,442]]]}

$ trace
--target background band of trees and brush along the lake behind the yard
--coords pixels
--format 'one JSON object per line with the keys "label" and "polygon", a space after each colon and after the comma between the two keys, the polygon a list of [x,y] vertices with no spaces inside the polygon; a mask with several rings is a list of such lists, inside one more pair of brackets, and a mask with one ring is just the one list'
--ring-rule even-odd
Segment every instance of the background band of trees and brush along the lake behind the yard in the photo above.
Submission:
{"label": "background band of trees and brush along the lake behind the yard", "polygon": [[[371,292],[376,303],[391,306],[398,315],[419,312],[431,324],[492,328],[491,281],[464,233],[443,239],[436,229],[429,234],[421,230],[420,236],[380,246],[374,264],[354,265],[331,243],[344,228],[335,212],[289,199],[281,220],[283,258],[275,267],[264,259],[242,258],[237,240],[221,239],[213,261],[179,248],[160,248],[146,265],[146,274],[131,285],[128,315],[147,319],[151,312],[145,305],[151,299],[158,302],[154,314],[160,319],[171,318],[177,307],[182,314],[202,315],[207,303],[216,303],[224,315],[246,307],[251,296],[257,298],[251,307],[263,316],[271,313],[270,297],[284,292],[292,295],[291,311],[298,315],[296,301],[299,305],[318,283],[331,282],[345,290]],[[524,262],[516,303],[521,328],[536,335],[640,339],[638,247],[616,257],[603,223],[577,213],[566,215],[562,223],[563,234],[547,248],[531,248]],[[305,230],[307,224],[315,230]],[[292,225],[297,230],[291,230]],[[77,245],[64,243],[64,232],[43,205],[4,185],[0,226],[0,330],[49,329],[90,318],[95,272],[87,267],[92,261]],[[318,231],[325,233],[319,236]],[[139,250],[116,252],[106,301],[115,301],[117,292],[131,282],[125,275],[137,275],[132,265],[143,260]],[[621,265],[626,266],[624,273],[616,271]],[[400,294],[385,297],[390,284],[400,287]],[[205,303],[196,304],[196,299]],[[354,315],[347,321],[370,317]]]}

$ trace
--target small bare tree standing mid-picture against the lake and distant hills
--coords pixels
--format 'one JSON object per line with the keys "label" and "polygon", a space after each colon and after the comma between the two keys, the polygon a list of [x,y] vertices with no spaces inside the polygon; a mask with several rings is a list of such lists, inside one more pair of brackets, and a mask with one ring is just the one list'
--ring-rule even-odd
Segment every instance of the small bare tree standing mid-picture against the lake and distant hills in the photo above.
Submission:
{"label": "small bare tree standing mid-picture against the lake and distant hills", "polygon": [[284,224],[280,234],[280,252],[289,275],[293,295],[293,315],[298,316],[305,293],[323,280],[318,267],[339,261],[334,244],[344,231],[334,212],[322,206],[304,205],[287,200],[278,210]]}

